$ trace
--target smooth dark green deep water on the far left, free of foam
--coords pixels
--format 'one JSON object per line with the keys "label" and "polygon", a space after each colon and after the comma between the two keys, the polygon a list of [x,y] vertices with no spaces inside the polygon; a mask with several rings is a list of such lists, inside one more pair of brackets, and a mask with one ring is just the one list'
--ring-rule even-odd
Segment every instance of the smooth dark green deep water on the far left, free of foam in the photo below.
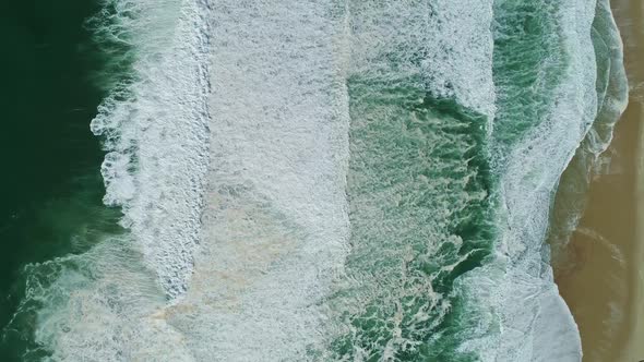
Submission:
{"label": "smooth dark green deep water on the far left, free of foam", "polygon": [[[98,10],[93,0],[0,4],[2,327],[24,293],[24,265],[81,251],[115,225],[117,212],[102,204],[104,154],[90,132],[105,96],[95,82],[105,61],[86,26]],[[17,360],[27,336],[3,335],[0,361]]]}

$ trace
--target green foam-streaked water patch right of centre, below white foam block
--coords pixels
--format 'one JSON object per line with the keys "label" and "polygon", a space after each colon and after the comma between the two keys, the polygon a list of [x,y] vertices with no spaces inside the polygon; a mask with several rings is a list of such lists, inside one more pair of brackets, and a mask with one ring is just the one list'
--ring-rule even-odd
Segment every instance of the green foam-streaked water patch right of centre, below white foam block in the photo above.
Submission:
{"label": "green foam-streaked water patch right of centre, below white foam block", "polygon": [[346,298],[358,294],[363,312],[344,317],[353,328],[334,341],[336,358],[474,361],[455,352],[478,323],[455,280],[485,263],[496,237],[487,119],[396,83],[349,80]]}

